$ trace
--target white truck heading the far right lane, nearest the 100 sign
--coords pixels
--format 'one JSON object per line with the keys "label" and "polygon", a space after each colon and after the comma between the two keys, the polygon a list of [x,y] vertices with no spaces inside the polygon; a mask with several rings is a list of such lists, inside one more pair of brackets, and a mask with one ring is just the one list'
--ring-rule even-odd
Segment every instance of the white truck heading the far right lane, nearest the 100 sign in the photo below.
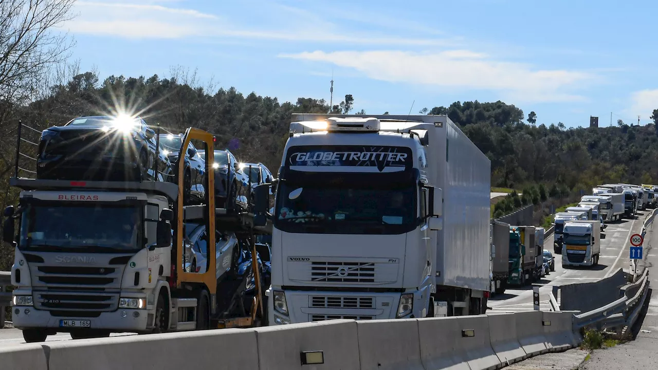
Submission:
{"label": "white truck heading the far right lane, nearest the 100 sign", "polygon": [[562,266],[596,266],[601,255],[599,221],[567,221],[564,228],[565,253]]}

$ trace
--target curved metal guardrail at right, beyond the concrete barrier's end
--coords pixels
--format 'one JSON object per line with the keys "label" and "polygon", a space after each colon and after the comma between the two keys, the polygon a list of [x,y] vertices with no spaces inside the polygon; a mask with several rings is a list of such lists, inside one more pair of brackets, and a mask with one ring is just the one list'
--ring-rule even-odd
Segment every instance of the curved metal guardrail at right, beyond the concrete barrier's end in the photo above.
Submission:
{"label": "curved metal guardrail at right, beyond the concrete barrier's end", "polygon": [[592,311],[574,315],[574,329],[595,327],[597,330],[601,330],[614,327],[632,327],[649,291],[648,269],[644,270],[642,277],[637,282],[624,286],[624,290],[632,291],[638,286],[639,289],[632,297],[628,297],[624,293],[624,296],[615,302]]}

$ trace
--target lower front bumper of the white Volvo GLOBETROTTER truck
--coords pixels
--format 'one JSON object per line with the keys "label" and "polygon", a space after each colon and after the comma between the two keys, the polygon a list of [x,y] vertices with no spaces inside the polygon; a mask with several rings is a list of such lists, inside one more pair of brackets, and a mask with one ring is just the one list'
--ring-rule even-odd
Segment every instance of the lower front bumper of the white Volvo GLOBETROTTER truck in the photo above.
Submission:
{"label": "lower front bumper of the white Volvo GLOBETROTTER truck", "polygon": [[[270,325],[276,325],[277,317],[290,323],[308,323],[332,319],[374,320],[396,319],[402,293],[369,292],[313,292],[285,290],[288,315],[274,311],[272,290],[268,290],[268,314]],[[414,294],[413,310],[400,317],[424,317],[427,314],[429,294]]]}

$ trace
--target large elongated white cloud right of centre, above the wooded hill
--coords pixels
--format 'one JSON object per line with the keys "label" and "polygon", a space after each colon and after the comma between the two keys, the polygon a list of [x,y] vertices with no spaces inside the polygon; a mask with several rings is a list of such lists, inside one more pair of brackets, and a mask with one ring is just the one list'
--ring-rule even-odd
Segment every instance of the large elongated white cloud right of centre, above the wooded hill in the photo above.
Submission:
{"label": "large elongated white cloud right of centre, above the wooded hill", "polygon": [[497,61],[468,50],[435,53],[409,51],[313,51],[280,57],[353,68],[368,78],[459,88],[493,90],[524,102],[582,101],[574,91],[596,76],[570,70],[540,70],[523,63]]}

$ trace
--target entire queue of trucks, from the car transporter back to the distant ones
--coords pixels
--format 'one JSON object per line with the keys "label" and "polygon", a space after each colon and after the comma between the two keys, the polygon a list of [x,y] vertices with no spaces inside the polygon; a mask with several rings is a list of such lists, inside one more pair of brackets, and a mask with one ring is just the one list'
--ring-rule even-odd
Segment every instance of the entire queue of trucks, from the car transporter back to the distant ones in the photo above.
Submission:
{"label": "entire queue of trucks, from the car transporter back to the distant ones", "polygon": [[[477,315],[491,293],[555,269],[543,228],[490,220],[490,161],[447,116],[293,115],[276,178],[260,163],[258,176],[239,176],[207,132],[166,134],[161,153],[159,130],[128,126],[124,142],[145,141],[123,155],[136,161],[122,159],[129,178],[104,173],[105,157],[67,163],[66,135],[70,150],[90,147],[78,128],[43,134],[39,165],[41,154],[51,163],[37,178],[18,176],[17,151],[22,192],[3,238],[14,243],[14,327],[28,342]],[[97,143],[113,128],[89,131]],[[629,197],[631,213],[655,206],[645,196],[655,190],[601,186],[555,215],[563,265],[597,263],[603,223]]]}

